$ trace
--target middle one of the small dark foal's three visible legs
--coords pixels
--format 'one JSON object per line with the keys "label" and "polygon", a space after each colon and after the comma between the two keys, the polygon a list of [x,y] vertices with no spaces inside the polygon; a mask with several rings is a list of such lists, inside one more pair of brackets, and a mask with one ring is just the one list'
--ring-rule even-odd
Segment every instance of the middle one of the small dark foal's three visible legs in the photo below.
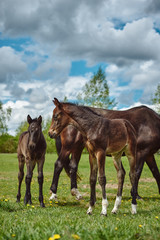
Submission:
{"label": "middle one of the small dark foal's three visible legs", "polygon": [[[24,204],[32,204],[31,201],[31,180],[32,180],[32,176],[33,176],[33,166],[32,166],[32,162],[31,159],[29,159],[28,157],[26,158],[26,167],[27,167],[27,174],[26,174],[26,178],[25,178],[25,183],[26,183],[26,194],[25,194],[25,198],[24,198]],[[35,163],[34,163],[35,166]]]}

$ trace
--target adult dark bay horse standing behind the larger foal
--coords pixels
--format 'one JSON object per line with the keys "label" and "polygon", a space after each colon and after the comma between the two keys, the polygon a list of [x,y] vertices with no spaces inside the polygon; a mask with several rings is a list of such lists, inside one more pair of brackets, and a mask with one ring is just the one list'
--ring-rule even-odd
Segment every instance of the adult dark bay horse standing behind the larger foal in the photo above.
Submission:
{"label": "adult dark bay horse standing behind the larger foal", "polygon": [[[147,163],[151,170],[160,193],[160,173],[154,158],[154,154],[160,148],[160,117],[152,109],[146,106],[134,107],[129,110],[117,111],[100,108],[91,108],[92,111],[101,114],[109,119],[126,119],[136,130],[137,133],[137,177],[141,176],[144,162]],[[51,127],[52,128],[52,123]],[[51,134],[49,134],[50,137]],[[51,184],[51,199],[57,193],[59,175],[65,168],[68,175],[71,177],[71,193],[77,199],[81,198],[81,194],[77,189],[76,173],[78,163],[84,148],[83,137],[80,132],[73,126],[67,126],[56,138],[56,146],[58,159],[55,163],[54,176]],[[69,156],[71,155],[71,159]],[[138,187],[138,186],[137,186]],[[139,198],[138,192],[137,196]]]}

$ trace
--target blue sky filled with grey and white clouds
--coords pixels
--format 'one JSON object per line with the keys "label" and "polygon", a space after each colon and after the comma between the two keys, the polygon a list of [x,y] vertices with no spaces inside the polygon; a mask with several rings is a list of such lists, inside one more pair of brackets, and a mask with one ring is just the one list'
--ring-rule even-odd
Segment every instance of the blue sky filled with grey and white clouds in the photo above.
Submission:
{"label": "blue sky filled with grey and white clouds", "polygon": [[1,0],[0,100],[14,135],[52,99],[74,101],[99,67],[117,109],[151,105],[160,81],[159,0]]}

